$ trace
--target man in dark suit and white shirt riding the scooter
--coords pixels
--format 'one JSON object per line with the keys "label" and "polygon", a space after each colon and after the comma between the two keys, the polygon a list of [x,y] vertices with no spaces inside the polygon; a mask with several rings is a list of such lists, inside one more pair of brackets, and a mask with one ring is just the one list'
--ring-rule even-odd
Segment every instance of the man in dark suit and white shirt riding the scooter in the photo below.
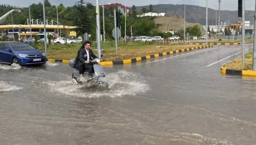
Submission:
{"label": "man in dark suit and white shirt riding the scooter", "polygon": [[[75,67],[79,69],[80,74],[80,81],[83,79],[83,74],[85,70],[88,70],[89,77],[93,76],[93,66],[90,64],[90,60],[98,58],[96,55],[93,54],[91,48],[91,42],[85,41],[83,46],[78,50],[77,56],[75,59]],[[84,55],[87,55],[87,58],[84,59]],[[102,60],[100,60],[102,61]]]}

